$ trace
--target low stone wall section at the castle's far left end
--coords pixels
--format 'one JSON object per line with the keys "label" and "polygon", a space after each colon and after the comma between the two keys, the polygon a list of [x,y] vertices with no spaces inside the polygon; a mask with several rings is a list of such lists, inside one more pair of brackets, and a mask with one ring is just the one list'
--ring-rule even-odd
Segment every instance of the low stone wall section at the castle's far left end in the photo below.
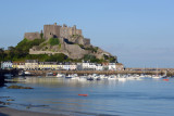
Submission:
{"label": "low stone wall section at the castle's far left end", "polygon": [[38,31],[36,33],[25,33],[24,38],[34,40],[34,39],[40,39],[40,34]]}

